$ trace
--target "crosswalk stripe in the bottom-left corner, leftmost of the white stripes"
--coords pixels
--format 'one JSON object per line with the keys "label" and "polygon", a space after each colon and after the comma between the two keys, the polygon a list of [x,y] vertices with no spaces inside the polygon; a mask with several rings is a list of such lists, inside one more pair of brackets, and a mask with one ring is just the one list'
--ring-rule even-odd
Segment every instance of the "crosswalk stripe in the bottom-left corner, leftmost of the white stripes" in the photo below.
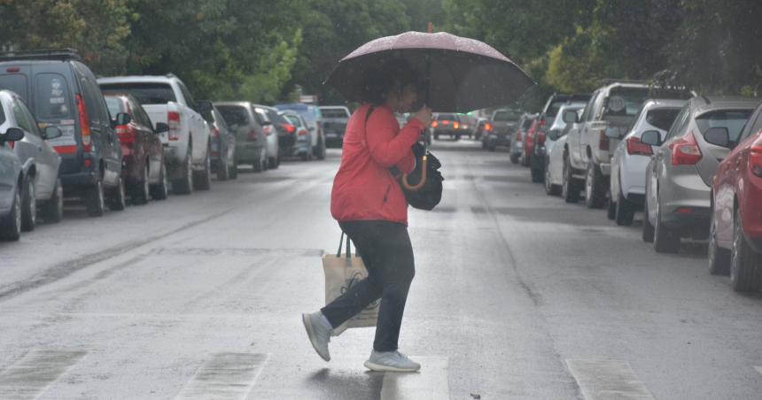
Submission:
{"label": "crosswalk stripe in the bottom-left corner, leftmost of the white stripes", "polygon": [[0,372],[0,398],[35,398],[85,354],[86,351],[29,351],[15,364]]}

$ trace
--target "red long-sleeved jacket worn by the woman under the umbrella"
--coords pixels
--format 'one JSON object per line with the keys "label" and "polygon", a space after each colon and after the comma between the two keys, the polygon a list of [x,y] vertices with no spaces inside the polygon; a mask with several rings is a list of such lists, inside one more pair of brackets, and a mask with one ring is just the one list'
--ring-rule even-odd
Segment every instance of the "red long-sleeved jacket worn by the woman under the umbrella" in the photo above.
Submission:
{"label": "red long-sleeved jacket worn by the woman under the umbrella", "polygon": [[370,114],[366,127],[368,109],[369,104],[363,104],[346,123],[330,214],[338,221],[384,219],[407,225],[408,202],[388,168],[397,166],[403,173],[415,168],[410,147],[424,124],[414,118],[400,130],[392,109],[381,105]]}

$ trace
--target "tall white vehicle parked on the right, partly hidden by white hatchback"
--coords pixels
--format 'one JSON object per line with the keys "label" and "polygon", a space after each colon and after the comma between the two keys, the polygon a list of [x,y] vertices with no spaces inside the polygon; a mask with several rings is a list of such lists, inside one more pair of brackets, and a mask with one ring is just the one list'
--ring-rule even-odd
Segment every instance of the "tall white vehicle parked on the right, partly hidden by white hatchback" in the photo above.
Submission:
{"label": "tall white vehicle parked on the right, partly hidden by white hatchback", "polygon": [[[585,204],[588,208],[601,208],[606,202],[609,188],[610,150],[616,149],[619,139],[627,127],[632,125],[635,113],[649,98],[688,99],[691,92],[684,89],[652,89],[645,83],[615,81],[598,88],[587,102],[585,111],[579,120],[567,120],[573,123],[569,130],[567,146],[569,168],[567,202],[578,199],[577,188],[585,189]],[[575,116],[575,113],[567,112]],[[583,186],[584,185],[584,186]]]}

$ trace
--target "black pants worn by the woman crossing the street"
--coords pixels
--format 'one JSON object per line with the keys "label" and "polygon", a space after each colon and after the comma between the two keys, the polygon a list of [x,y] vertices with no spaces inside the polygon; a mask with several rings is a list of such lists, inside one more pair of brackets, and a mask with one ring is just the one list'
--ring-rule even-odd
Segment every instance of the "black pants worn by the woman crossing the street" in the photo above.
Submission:
{"label": "black pants worn by the woman crossing the street", "polygon": [[368,269],[368,279],[354,284],[321,311],[331,326],[338,327],[381,298],[373,350],[397,350],[402,313],[410,282],[416,274],[408,228],[384,220],[348,221],[338,225],[354,242]]}

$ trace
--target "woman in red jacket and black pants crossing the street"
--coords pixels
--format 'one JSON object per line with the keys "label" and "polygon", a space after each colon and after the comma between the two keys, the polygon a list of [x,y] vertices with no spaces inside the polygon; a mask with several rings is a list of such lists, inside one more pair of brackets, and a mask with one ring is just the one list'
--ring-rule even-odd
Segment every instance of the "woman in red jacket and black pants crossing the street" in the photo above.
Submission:
{"label": "woman in red jacket and black pants crossing the street", "polygon": [[404,61],[386,63],[369,73],[367,80],[367,96],[346,124],[330,212],[354,242],[369,276],[321,311],[302,314],[302,320],[315,351],[329,361],[333,327],[381,298],[376,340],[365,366],[373,371],[413,372],[421,365],[397,350],[402,313],[415,275],[408,203],[389,168],[397,167],[401,173],[415,169],[410,147],[429,126],[432,112],[424,106],[400,130],[394,112],[410,111],[423,86]]}

